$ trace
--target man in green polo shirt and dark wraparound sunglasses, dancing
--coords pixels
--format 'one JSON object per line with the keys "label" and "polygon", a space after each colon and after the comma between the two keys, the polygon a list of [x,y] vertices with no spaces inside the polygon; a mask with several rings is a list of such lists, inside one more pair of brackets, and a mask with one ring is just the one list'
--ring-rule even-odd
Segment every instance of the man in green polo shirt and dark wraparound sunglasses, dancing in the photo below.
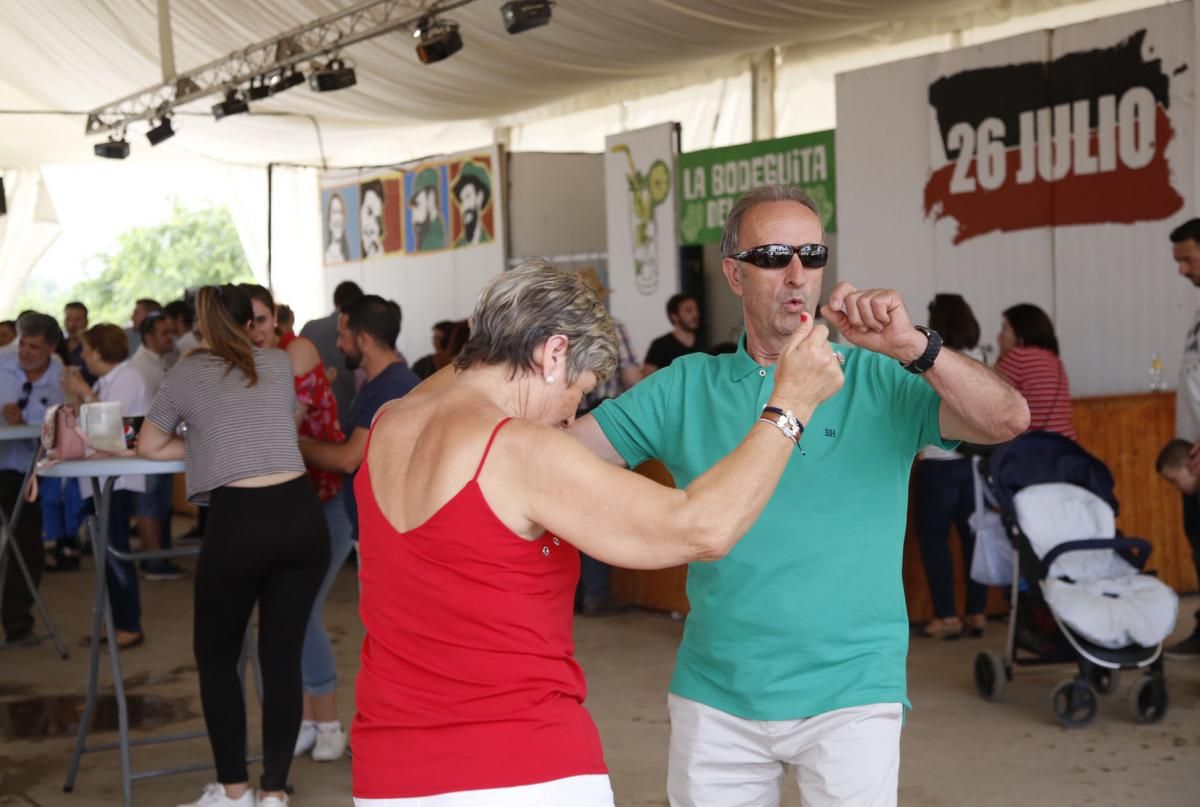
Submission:
{"label": "man in green polo shirt and dark wraparound sunglasses, dancing", "polygon": [[[662,460],[684,486],[762,414],[780,347],[814,311],[828,257],[816,205],[764,186],[731,210],[722,270],[742,298],[737,353],[686,355],[574,428],[613,462]],[[793,766],[804,803],[894,805],[908,623],[901,580],[918,449],[994,443],[1025,400],[918,330],[900,295],[839,283],[823,316],[850,347],[770,503],[722,560],[688,572],[691,614],[668,699],[673,807],[775,805]]]}

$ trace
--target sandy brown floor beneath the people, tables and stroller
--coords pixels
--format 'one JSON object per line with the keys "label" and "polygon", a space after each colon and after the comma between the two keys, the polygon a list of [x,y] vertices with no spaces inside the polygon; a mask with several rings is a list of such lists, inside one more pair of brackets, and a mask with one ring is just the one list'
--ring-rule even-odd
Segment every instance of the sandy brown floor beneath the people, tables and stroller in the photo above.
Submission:
{"label": "sandy brown floor beneath the people, tables and stroller", "polygon": [[[50,576],[43,592],[71,647],[60,660],[49,642],[0,651],[0,806],[120,803],[115,753],[84,757],[76,791],[62,793],[86,651],[91,572]],[[355,581],[347,569],[326,610],[340,669],[340,710],[353,713],[353,670],[361,640]],[[139,736],[202,728],[191,657],[191,585],[144,582],[146,644],[122,656],[131,695],[143,695]],[[1196,597],[1181,606],[1182,635],[1190,628]],[[588,674],[588,706],[604,736],[617,803],[666,805],[666,683],[682,624],[647,612],[581,620],[578,656]],[[1198,805],[1200,803],[1200,663],[1168,663],[1170,712],[1157,725],[1138,725],[1126,704],[1126,674],[1100,713],[1082,730],[1060,728],[1049,707],[1051,687],[1066,668],[1018,669],[1002,703],[980,700],[972,685],[972,660],[980,648],[1000,650],[1002,627],[989,626],[979,640],[917,640],[910,657],[914,705],[902,740],[900,803],[958,805]],[[107,660],[102,658],[102,660]],[[104,668],[104,681],[108,681]],[[62,698],[61,701],[54,701]],[[32,699],[32,703],[29,703]],[[54,703],[54,706],[47,704]],[[252,746],[258,706],[251,697]],[[102,713],[112,723],[112,713]],[[150,728],[152,727],[152,728]],[[20,735],[20,736],[17,736]],[[97,735],[98,741],[115,734]],[[134,770],[166,767],[208,758],[204,741],[134,749]],[[257,778],[257,771],[252,769]],[[194,799],[211,772],[134,784],[137,805]],[[317,764],[305,758],[292,769],[296,807],[349,803],[349,763]],[[782,803],[798,806],[787,787]],[[565,807],[565,806],[564,806]]]}

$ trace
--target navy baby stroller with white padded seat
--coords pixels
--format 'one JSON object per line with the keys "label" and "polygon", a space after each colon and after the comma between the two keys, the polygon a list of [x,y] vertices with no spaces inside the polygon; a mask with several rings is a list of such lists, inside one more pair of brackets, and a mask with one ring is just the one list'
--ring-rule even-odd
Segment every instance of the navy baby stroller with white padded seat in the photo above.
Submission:
{"label": "navy baby stroller with white padded seat", "polygon": [[1015,551],[1004,654],[976,657],[979,695],[998,700],[1014,664],[1075,663],[1051,705],[1064,727],[1084,727],[1096,717],[1097,693],[1116,692],[1118,670],[1146,670],[1129,709],[1142,723],[1163,719],[1163,640],[1178,597],[1142,572],[1150,543],[1116,531],[1108,467],[1061,435],[1034,431],[984,458],[980,476]]}

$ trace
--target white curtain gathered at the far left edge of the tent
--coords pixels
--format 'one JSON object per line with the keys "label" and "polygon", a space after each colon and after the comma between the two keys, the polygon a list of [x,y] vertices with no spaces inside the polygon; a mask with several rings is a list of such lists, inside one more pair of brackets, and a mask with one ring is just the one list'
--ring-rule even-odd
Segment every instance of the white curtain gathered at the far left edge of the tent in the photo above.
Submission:
{"label": "white curtain gathered at the far left edge of the tent", "polygon": [[0,216],[0,311],[7,311],[30,269],[59,237],[58,216],[37,168],[4,172],[8,213]]}

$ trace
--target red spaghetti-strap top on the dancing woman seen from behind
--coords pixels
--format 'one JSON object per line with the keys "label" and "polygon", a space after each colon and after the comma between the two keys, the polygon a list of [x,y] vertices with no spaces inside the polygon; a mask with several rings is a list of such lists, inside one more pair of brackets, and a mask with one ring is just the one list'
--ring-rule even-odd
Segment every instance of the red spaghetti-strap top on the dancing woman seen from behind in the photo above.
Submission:
{"label": "red spaghetti-strap top on the dancing woman seen from behind", "polygon": [[[580,554],[526,540],[492,512],[479,468],[421,526],[359,506],[366,627],[355,686],[353,790],[404,799],[607,773],[571,639]],[[370,441],[367,443],[370,448]]]}

